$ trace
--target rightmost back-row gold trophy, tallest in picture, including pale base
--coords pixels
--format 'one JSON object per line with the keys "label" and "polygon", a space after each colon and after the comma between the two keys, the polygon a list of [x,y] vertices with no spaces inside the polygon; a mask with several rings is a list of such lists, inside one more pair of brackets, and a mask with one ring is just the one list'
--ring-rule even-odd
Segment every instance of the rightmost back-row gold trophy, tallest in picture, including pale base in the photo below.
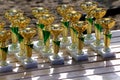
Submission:
{"label": "rightmost back-row gold trophy, tallest in picture, including pale base", "polygon": [[89,22],[89,25],[87,27],[87,36],[85,37],[85,44],[90,44],[95,40],[95,37],[92,36],[91,30],[93,25],[93,15],[91,15],[89,12],[97,7],[96,2],[82,2],[80,7],[87,13],[86,21]]}

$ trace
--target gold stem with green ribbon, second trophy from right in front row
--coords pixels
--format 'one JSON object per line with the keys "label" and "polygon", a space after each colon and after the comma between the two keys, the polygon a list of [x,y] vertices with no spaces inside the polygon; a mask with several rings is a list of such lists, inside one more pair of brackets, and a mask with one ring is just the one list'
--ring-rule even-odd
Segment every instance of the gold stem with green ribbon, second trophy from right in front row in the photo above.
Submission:
{"label": "gold stem with green ribbon, second trophy from right in front row", "polygon": [[78,33],[78,54],[82,53],[84,47],[84,37],[82,33]]}

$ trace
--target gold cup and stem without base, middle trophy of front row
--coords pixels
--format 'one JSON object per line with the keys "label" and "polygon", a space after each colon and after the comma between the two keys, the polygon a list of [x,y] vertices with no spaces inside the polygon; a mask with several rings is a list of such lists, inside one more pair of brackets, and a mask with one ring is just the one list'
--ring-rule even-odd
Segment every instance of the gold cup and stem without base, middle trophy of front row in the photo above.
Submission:
{"label": "gold cup and stem without base, middle trophy of front row", "polygon": [[51,34],[53,35],[53,50],[54,56],[58,56],[59,48],[60,48],[60,41],[58,39],[58,35],[63,31],[63,28],[60,24],[53,24],[51,27]]}

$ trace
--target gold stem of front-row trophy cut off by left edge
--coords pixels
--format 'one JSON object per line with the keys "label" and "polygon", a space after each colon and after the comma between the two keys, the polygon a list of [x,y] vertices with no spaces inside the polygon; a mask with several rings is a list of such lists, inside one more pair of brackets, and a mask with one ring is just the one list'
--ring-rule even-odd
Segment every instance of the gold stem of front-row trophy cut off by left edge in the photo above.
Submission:
{"label": "gold stem of front-row trophy cut off by left edge", "polygon": [[7,51],[5,51],[5,42],[0,42],[0,53],[1,53],[1,66],[5,66],[7,59]]}

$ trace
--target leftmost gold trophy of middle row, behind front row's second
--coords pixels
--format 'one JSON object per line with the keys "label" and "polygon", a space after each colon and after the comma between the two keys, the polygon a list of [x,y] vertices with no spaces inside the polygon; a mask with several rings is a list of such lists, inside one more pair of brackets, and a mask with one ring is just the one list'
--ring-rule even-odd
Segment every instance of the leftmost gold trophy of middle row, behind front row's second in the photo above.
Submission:
{"label": "leftmost gold trophy of middle row, behind front row's second", "polygon": [[[14,20],[14,23],[19,27],[19,30],[25,29],[28,24],[30,23],[30,19],[27,17],[19,17],[18,19]],[[24,49],[24,39],[22,35],[18,32],[17,38],[20,44],[20,51],[15,53],[16,58],[19,59],[24,59],[25,58],[25,49]]]}

